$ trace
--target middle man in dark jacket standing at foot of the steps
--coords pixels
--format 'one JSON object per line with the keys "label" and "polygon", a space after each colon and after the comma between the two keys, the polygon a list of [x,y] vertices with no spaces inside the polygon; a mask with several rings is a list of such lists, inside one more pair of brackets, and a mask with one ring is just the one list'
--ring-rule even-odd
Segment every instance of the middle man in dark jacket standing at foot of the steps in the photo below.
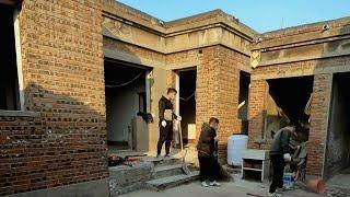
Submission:
{"label": "middle man in dark jacket standing at foot of the steps", "polygon": [[[209,124],[201,127],[200,137],[197,144],[198,160],[200,169],[200,181],[203,187],[220,186],[215,181],[219,171],[218,164],[218,118],[210,118]],[[209,182],[209,185],[208,185]]]}

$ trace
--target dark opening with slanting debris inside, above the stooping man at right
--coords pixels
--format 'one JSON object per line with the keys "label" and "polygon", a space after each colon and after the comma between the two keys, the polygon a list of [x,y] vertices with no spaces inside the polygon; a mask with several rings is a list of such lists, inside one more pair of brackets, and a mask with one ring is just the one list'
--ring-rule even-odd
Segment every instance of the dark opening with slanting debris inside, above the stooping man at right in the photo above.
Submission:
{"label": "dark opening with slanting debris inside, above the stooping man at right", "polygon": [[291,123],[300,129],[300,140],[308,140],[310,114],[306,111],[313,93],[314,78],[295,77],[272,79],[269,84],[268,108],[265,138],[271,138],[285,124]]}

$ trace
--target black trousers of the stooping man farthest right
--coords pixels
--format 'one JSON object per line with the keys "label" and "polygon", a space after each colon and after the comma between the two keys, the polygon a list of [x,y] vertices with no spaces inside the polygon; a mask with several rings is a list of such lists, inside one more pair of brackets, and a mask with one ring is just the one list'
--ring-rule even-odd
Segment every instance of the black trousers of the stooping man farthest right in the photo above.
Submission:
{"label": "black trousers of the stooping man farthest right", "polygon": [[275,193],[277,187],[283,187],[283,171],[285,162],[283,155],[270,155],[270,159],[273,169],[273,177],[269,193]]}

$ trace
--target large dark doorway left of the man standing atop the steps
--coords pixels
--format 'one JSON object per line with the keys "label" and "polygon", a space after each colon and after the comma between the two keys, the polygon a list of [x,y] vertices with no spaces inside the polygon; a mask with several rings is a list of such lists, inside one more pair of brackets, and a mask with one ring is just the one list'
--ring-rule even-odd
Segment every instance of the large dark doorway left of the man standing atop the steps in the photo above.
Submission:
{"label": "large dark doorway left of the man standing atop the steps", "polygon": [[147,69],[105,60],[107,142],[132,149],[133,118],[147,111]]}

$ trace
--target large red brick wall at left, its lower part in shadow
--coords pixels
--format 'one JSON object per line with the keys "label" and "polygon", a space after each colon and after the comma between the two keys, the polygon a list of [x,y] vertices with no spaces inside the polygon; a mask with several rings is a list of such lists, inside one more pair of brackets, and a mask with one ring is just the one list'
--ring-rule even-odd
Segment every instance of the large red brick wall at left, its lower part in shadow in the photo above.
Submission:
{"label": "large red brick wall at left, its lower part in shadow", "polygon": [[0,195],[108,176],[101,1],[25,0],[25,106],[0,117]]}

